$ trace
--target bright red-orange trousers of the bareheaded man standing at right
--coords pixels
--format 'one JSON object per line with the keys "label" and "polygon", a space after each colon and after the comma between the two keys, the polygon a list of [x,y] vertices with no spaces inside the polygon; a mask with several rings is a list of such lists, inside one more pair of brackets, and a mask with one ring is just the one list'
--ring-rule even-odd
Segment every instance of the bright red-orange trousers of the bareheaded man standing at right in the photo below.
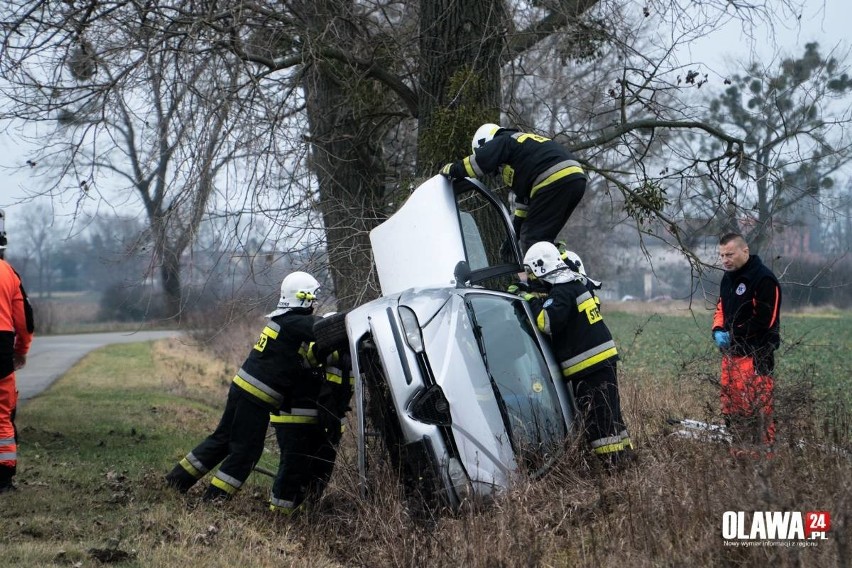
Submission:
{"label": "bright red-orange trousers of the bareheaded man standing at right", "polygon": [[722,414],[735,435],[755,443],[775,442],[774,390],[772,377],[755,372],[754,357],[722,356]]}

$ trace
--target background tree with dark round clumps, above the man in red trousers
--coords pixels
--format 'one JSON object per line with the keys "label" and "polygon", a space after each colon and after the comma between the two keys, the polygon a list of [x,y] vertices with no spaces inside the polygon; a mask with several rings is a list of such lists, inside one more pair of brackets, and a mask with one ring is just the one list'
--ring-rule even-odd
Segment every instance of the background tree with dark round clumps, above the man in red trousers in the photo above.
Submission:
{"label": "background tree with dark round clumps, above the man in red trousers", "polygon": [[798,221],[799,206],[827,197],[832,176],[852,160],[845,136],[852,112],[843,101],[852,80],[843,65],[809,43],[801,57],[777,68],[752,63],[709,105],[709,119],[744,141],[736,169],[711,178],[709,203],[728,215],[736,211],[743,223],[731,228],[745,229],[755,251]]}

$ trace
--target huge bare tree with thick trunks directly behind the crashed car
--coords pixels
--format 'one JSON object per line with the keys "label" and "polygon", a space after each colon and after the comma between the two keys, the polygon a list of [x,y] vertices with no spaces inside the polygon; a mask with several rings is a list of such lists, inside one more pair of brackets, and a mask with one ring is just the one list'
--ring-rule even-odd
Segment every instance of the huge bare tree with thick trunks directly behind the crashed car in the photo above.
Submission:
{"label": "huge bare tree with thick trunks directly behind the crashed car", "polygon": [[[640,231],[651,221],[662,223],[674,244],[688,249],[679,219],[666,209],[666,184],[678,180],[694,191],[692,180],[707,175],[701,168],[735,168],[744,154],[739,133],[704,120],[682,98],[706,77],[674,61],[674,45],[706,33],[713,24],[708,18],[728,17],[729,3],[723,0],[695,4],[699,18],[681,20],[683,7],[669,1],[650,2],[644,13],[632,12],[623,2],[600,0],[255,0],[237,5],[152,0],[144,7],[91,2],[74,9],[75,23],[69,25],[67,13],[51,17],[44,0],[17,0],[7,8],[12,16],[0,69],[16,85],[54,85],[58,81],[21,75],[30,58],[52,56],[62,60],[62,68],[68,59],[91,61],[88,67],[75,63],[82,71],[78,74],[100,76],[99,58],[110,50],[88,39],[88,30],[119,13],[125,14],[122,22],[132,20],[148,48],[135,66],[120,68],[101,84],[106,92],[133,76],[130,69],[151,54],[170,54],[163,61],[180,71],[163,76],[180,84],[186,83],[189,69],[198,68],[187,66],[187,54],[215,61],[217,71],[231,69],[229,58],[238,58],[244,65],[236,68],[233,87],[239,97],[228,104],[239,101],[244,114],[250,109],[266,129],[262,135],[243,130],[245,124],[224,130],[243,142],[250,138],[255,150],[263,144],[268,148],[254,153],[264,167],[249,168],[247,176],[251,195],[266,198],[251,198],[246,210],[268,212],[275,195],[280,210],[304,213],[315,204],[345,308],[375,293],[367,232],[405,196],[408,180],[469,152],[475,126],[503,115],[556,134],[620,194],[613,204],[623,207]],[[751,3],[738,7],[735,17],[746,23],[768,21],[774,5]],[[795,10],[796,0],[785,0],[783,6]],[[641,34],[628,33],[643,19],[652,22],[645,27],[674,30],[667,45],[646,50],[638,41]],[[572,87],[570,93],[582,95],[575,98],[554,97],[542,88],[546,82],[538,71],[543,68],[577,85],[588,83],[583,77],[590,69],[600,70],[604,83],[589,84],[587,92]],[[211,73],[204,78],[214,81]],[[67,93],[85,102],[79,91],[69,88]],[[41,117],[59,108],[56,99],[44,100],[53,102],[39,107]],[[31,100],[18,102],[18,108],[33,108]],[[189,128],[193,114],[185,109],[177,114]],[[683,130],[720,145],[686,156],[674,134]],[[298,134],[286,148],[276,143],[282,133],[293,132],[302,134],[298,142],[310,145],[310,175],[294,165],[306,163],[297,150]],[[677,171],[650,171],[659,163],[653,158],[664,152],[682,160]],[[282,184],[273,172],[287,175],[289,183]],[[186,186],[185,199],[193,201],[189,196],[203,194],[204,187],[202,182]],[[305,228],[316,227],[307,222]]]}

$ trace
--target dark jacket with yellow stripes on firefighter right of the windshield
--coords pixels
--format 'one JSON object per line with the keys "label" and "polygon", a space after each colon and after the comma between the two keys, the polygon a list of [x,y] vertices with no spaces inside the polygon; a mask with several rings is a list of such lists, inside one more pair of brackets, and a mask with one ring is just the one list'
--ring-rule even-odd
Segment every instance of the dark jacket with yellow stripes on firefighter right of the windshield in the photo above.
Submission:
{"label": "dark jacket with yellow stripes on firefighter right of the windshield", "polygon": [[547,299],[530,301],[538,328],[552,338],[562,375],[577,379],[618,360],[591,283],[554,284]]}

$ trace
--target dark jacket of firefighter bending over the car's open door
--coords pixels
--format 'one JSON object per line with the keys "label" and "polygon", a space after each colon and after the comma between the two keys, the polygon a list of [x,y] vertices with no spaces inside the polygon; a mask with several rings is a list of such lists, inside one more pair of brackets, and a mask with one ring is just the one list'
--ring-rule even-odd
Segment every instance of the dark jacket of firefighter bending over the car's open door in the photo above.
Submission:
{"label": "dark jacket of firefighter bending over the car's open door", "polygon": [[576,156],[557,142],[537,134],[502,130],[473,154],[450,167],[450,177],[482,177],[501,166],[503,181],[521,203],[542,187],[561,180],[585,178]]}

